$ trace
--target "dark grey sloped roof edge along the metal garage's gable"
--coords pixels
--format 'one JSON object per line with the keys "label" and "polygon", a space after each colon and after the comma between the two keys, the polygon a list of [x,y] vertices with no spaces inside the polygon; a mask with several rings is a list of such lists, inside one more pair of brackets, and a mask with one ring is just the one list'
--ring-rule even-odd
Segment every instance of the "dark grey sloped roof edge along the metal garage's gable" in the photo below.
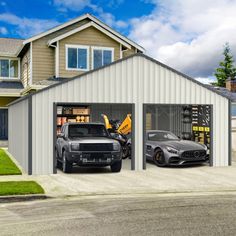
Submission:
{"label": "dark grey sloped roof edge along the metal garage's gable", "polygon": [[178,74],[178,75],[184,77],[185,79],[188,79],[188,80],[190,80],[191,82],[193,82],[193,83],[195,83],[195,84],[198,84],[198,85],[200,85],[200,86],[206,88],[207,90],[212,91],[212,92],[218,94],[219,96],[224,97],[224,98],[227,98],[228,100],[232,101],[232,97],[229,96],[229,94],[227,94],[227,93],[222,93],[221,91],[215,89],[214,87],[211,87],[211,86],[208,86],[208,85],[206,85],[206,84],[203,84],[203,83],[201,83],[201,82],[195,80],[194,78],[192,78],[192,77],[190,77],[190,76],[188,76],[188,75],[185,75],[185,74],[183,74],[183,73],[181,73],[181,72],[179,72],[179,71],[177,71],[177,70],[175,70],[175,69],[173,69],[173,68],[171,68],[171,67],[169,67],[169,66],[167,66],[167,65],[165,65],[165,64],[163,64],[163,63],[161,63],[161,62],[159,62],[159,61],[157,61],[157,60],[155,60],[155,59],[153,59],[153,58],[151,58],[151,57],[149,57],[149,56],[147,56],[147,55],[145,55],[145,54],[136,53],[136,54],[133,54],[133,55],[131,55],[131,56],[129,56],[129,57],[126,57],[126,58],[117,60],[117,61],[115,61],[115,62],[113,62],[113,63],[110,63],[109,65],[106,65],[106,66],[97,68],[97,69],[95,69],[95,70],[91,70],[91,71],[85,72],[85,73],[83,73],[83,74],[81,74],[81,75],[79,75],[79,76],[75,76],[75,77],[73,77],[73,78],[68,78],[68,79],[63,79],[63,80],[61,80],[61,82],[59,82],[59,83],[52,84],[52,85],[50,85],[50,86],[48,86],[48,87],[46,87],[46,88],[43,88],[43,89],[41,89],[41,90],[39,90],[39,91],[37,91],[37,92],[35,92],[35,93],[32,93],[32,94],[26,95],[25,97],[19,98],[19,99],[15,100],[14,102],[8,104],[8,106],[13,105],[13,104],[15,104],[15,103],[18,103],[18,102],[20,102],[20,101],[22,101],[22,100],[25,100],[25,99],[29,98],[29,97],[32,97],[32,96],[34,96],[34,95],[36,95],[36,94],[38,94],[38,93],[41,93],[41,92],[43,92],[43,91],[45,91],[45,90],[54,88],[54,87],[59,86],[59,85],[64,84],[64,83],[68,83],[68,82],[71,81],[71,80],[75,80],[75,79],[82,78],[82,77],[84,77],[85,75],[92,74],[92,73],[94,73],[95,71],[98,71],[98,70],[103,70],[103,69],[106,68],[106,67],[110,67],[110,66],[112,66],[112,65],[114,65],[114,64],[121,63],[121,62],[126,61],[126,60],[129,60],[130,58],[133,58],[133,57],[143,57],[143,58],[146,58],[147,60],[150,60],[150,61],[156,63],[157,65],[162,66],[162,67],[164,67],[164,68],[166,68],[166,69],[168,69],[168,70],[170,70],[170,71],[172,71],[172,72],[174,72],[174,73],[176,73],[176,74]]}

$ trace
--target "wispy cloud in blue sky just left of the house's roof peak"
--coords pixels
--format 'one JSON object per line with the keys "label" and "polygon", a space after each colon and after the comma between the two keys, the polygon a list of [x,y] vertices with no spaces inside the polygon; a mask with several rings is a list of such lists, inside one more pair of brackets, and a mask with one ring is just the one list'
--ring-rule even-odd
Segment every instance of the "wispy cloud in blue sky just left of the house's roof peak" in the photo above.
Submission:
{"label": "wispy cloud in blue sky just left of the house's roof peak", "polygon": [[14,25],[16,27],[16,33],[22,38],[27,38],[41,33],[59,24],[59,22],[55,20],[25,17],[20,18],[10,13],[0,14],[0,22]]}

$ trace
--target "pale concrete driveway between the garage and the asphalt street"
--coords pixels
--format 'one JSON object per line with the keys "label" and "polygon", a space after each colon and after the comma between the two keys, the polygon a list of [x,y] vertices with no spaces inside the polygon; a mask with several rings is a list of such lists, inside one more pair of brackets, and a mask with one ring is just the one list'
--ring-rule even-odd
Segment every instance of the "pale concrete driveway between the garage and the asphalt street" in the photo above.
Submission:
{"label": "pale concrete driveway between the garage and the asphalt street", "polygon": [[188,168],[158,168],[147,165],[146,171],[109,169],[95,173],[39,176],[1,176],[0,181],[35,180],[47,196],[91,196],[159,193],[236,192],[236,165],[230,167],[198,166]]}

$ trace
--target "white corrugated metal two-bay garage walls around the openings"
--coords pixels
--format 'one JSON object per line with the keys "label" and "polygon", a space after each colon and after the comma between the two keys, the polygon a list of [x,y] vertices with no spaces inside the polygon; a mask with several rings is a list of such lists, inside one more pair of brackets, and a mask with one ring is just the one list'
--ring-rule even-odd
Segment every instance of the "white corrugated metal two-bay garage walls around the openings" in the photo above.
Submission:
{"label": "white corrugated metal two-bay garage walls around the openings", "polygon": [[136,54],[9,105],[9,152],[29,174],[55,173],[55,103],[133,104],[135,170],[145,166],[144,104],[211,105],[211,165],[231,164],[229,99],[152,58]]}

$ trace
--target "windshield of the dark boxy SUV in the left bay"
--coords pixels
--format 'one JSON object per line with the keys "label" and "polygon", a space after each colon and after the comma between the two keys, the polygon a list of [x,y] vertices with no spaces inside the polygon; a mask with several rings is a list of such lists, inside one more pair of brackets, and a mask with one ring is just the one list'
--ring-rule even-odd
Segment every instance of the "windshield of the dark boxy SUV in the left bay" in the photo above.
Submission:
{"label": "windshield of the dark boxy SUV in the left bay", "polygon": [[103,125],[69,125],[69,137],[107,137],[108,133]]}

